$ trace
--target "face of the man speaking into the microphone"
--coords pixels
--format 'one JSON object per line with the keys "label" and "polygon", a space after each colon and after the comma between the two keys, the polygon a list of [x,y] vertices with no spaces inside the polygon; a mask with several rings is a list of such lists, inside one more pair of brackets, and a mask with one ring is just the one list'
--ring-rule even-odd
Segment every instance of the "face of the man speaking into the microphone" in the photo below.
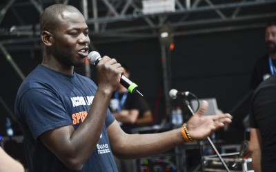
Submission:
{"label": "face of the man speaking into the microphone", "polygon": [[82,65],[88,56],[88,26],[79,12],[63,12],[53,34],[53,54],[66,66]]}

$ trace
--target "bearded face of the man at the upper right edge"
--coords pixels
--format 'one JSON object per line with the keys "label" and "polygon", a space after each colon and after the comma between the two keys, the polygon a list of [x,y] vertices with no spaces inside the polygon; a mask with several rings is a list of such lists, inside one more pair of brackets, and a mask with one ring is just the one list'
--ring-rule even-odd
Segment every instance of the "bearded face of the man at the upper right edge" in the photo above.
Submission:
{"label": "bearded face of the man at the upper right edge", "polygon": [[270,53],[276,53],[276,25],[270,25],[266,28],[266,46]]}

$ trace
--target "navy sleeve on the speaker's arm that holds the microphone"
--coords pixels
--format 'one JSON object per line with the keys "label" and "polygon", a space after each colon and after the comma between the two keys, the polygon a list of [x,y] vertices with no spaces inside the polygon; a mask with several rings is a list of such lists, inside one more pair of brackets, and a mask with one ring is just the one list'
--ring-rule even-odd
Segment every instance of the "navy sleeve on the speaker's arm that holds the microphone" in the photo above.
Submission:
{"label": "navy sleeve on the speaker's arm that holds the microphone", "polygon": [[61,100],[48,89],[28,90],[22,97],[21,111],[34,139],[50,129],[72,125]]}

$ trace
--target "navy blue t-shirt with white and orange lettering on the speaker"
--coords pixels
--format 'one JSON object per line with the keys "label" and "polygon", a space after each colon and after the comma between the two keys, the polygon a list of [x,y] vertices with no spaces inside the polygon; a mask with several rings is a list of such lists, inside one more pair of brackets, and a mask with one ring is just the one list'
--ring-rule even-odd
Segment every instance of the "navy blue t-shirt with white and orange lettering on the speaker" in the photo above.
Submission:
{"label": "navy blue t-shirt with white and orange lettering on the speaker", "polygon": [[[61,126],[77,129],[86,118],[96,91],[90,78],[61,74],[43,65],[23,80],[14,110],[23,132],[28,171],[70,171],[38,137]],[[117,171],[106,129],[114,121],[108,110],[97,147],[81,171]]]}

